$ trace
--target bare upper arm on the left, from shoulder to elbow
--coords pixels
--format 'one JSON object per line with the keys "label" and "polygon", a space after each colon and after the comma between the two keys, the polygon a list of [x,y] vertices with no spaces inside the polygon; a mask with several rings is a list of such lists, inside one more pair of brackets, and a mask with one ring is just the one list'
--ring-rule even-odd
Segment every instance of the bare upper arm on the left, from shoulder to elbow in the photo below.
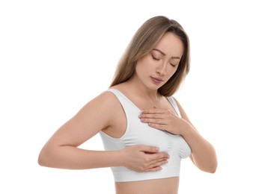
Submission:
{"label": "bare upper arm on the left, from shoulder to elbow", "polygon": [[112,93],[101,93],[61,125],[49,142],[58,145],[67,145],[67,143],[73,146],[81,145],[99,131],[112,125],[116,106],[118,100]]}

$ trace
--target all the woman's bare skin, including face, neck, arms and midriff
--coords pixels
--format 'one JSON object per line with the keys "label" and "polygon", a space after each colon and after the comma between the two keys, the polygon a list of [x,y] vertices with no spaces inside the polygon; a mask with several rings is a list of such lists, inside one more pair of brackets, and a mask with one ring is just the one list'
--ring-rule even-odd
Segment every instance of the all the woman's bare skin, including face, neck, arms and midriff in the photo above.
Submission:
{"label": "all the woman's bare skin, including face, neck, arms and midriff", "polygon": [[[177,69],[183,54],[183,44],[174,34],[166,33],[156,48],[138,60],[135,73],[128,81],[116,85],[139,109],[138,119],[156,130],[180,134],[192,149],[195,166],[205,172],[215,172],[216,153],[186,116],[177,101],[181,118],[157,90]],[[116,96],[105,92],[89,101],[67,121],[43,146],[38,157],[41,166],[61,169],[93,169],[125,166],[135,172],[155,172],[168,162],[167,153],[150,145],[131,145],[118,151],[93,151],[79,148],[100,131],[121,137],[127,126],[123,107]],[[117,194],[177,194],[179,178],[115,183]]]}

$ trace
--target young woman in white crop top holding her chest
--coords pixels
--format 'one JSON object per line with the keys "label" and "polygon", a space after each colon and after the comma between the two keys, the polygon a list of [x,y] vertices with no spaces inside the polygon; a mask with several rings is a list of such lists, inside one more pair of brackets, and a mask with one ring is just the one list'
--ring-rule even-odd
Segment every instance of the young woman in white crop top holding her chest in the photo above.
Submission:
{"label": "young woman in white crop top holding her chest", "polygon": [[[165,16],[135,33],[108,90],[43,146],[38,163],[61,169],[111,167],[117,194],[177,194],[180,160],[215,172],[216,151],[174,97],[189,72],[189,38]],[[79,148],[100,133],[105,151]]]}

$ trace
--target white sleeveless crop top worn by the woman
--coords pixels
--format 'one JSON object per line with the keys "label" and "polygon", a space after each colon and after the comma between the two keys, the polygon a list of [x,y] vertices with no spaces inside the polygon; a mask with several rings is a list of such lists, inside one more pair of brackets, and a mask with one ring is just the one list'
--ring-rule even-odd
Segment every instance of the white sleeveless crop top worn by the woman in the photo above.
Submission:
{"label": "white sleeveless crop top worn by the woman", "polygon": [[[191,154],[189,145],[183,137],[170,134],[166,131],[160,131],[156,128],[151,128],[146,123],[141,122],[138,118],[141,110],[136,107],[132,101],[124,96],[119,90],[109,89],[107,91],[114,93],[124,108],[127,117],[127,129],[124,135],[120,138],[110,137],[103,131],[100,131],[104,148],[106,150],[120,150],[129,145],[153,145],[158,147],[159,151],[168,152],[170,155],[168,163],[162,165],[162,169],[157,172],[135,172],[124,166],[112,167],[111,169],[115,181],[142,181],[179,176],[181,158],[189,157]],[[174,98],[169,97],[168,101],[170,101],[174,110],[180,116],[180,111]]]}

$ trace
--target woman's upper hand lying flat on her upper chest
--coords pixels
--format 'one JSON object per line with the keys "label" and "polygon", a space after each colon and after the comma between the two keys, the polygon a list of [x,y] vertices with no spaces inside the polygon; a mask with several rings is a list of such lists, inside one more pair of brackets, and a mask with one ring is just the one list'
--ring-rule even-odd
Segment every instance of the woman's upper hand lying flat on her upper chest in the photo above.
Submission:
{"label": "woman's upper hand lying flat on her upper chest", "polygon": [[141,119],[141,122],[148,123],[150,127],[168,131],[171,134],[182,135],[183,131],[189,125],[186,120],[177,116],[176,113],[169,109],[162,108],[142,110],[139,118]]}

